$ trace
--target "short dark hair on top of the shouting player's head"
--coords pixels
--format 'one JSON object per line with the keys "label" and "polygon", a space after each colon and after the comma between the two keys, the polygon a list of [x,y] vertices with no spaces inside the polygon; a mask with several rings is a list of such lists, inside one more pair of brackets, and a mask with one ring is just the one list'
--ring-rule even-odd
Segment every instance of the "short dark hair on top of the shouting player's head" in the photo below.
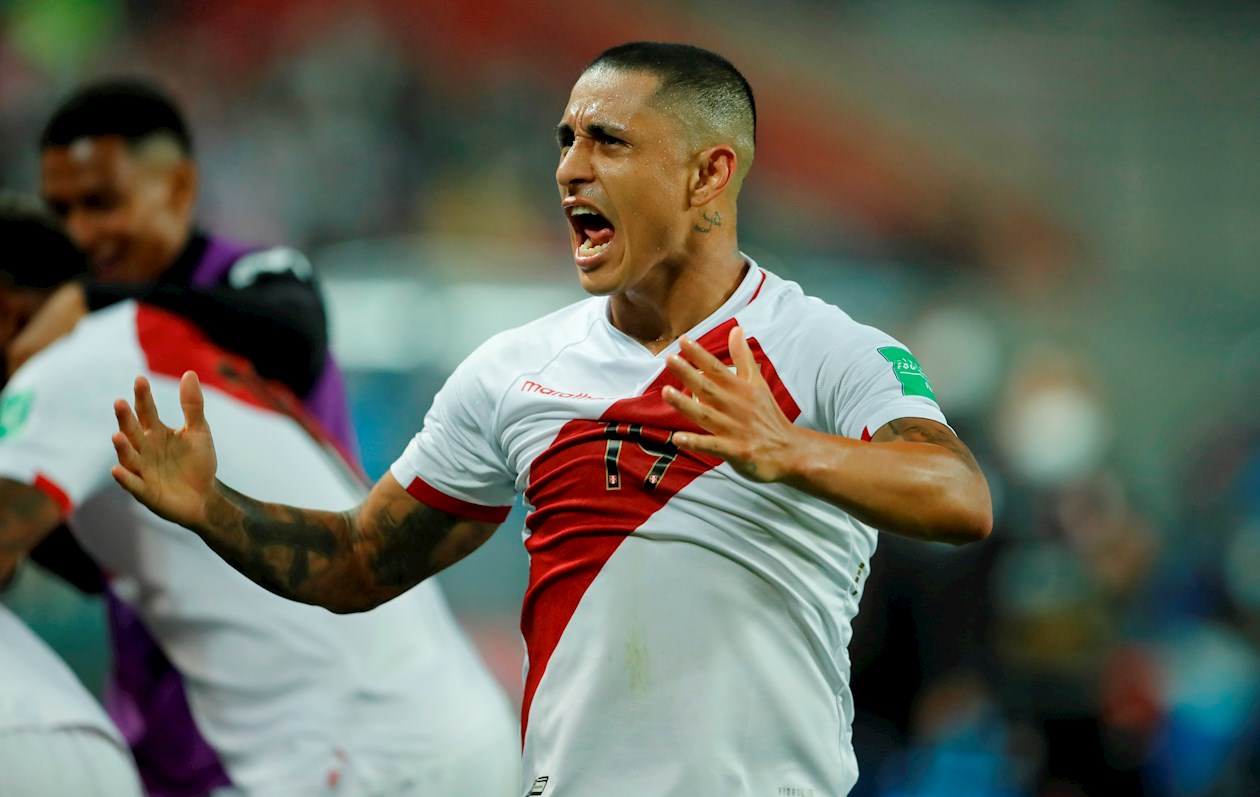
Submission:
{"label": "short dark hair on top of the shouting player's head", "polygon": [[595,57],[583,72],[611,67],[648,72],[660,81],[658,94],[684,97],[697,110],[721,118],[731,128],[746,128],[750,144],[757,141],[757,103],[752,87],[740,71],[712,50],[692,44],[630,42]]}

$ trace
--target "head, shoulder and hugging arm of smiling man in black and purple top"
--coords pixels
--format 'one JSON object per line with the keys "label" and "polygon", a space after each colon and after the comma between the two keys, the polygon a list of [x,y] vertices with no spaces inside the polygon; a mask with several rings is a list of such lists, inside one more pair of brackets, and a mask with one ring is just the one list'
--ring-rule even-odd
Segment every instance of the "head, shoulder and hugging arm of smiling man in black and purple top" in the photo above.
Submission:
{"label": "head, shoulder and hugging arm of smiling man in black and purple top", "polygon": [[310,262],[247,246],[194,222],[198,170],[175,102],[156,86],[91,83],[40,137],[40,184],[92,278],[64,286],[9,349],[11,368],[89,310],[139,298],[193,320],[219,346],[284,383],[348,449],[354,431]]}

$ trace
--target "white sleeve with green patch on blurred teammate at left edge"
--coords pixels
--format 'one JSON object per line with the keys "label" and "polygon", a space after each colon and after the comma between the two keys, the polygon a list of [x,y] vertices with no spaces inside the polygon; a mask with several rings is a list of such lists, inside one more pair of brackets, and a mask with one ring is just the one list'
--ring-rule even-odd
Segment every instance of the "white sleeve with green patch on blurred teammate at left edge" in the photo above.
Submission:
{"label": "white sleeve with green patch on blurred teammate at left edge", "polygon": [[0,393],[0,477],[42,490],[67,515],[112,483],[112,405],[131,379],[102,384],[100,360],[67,356],[73,339],[32,358]]}

